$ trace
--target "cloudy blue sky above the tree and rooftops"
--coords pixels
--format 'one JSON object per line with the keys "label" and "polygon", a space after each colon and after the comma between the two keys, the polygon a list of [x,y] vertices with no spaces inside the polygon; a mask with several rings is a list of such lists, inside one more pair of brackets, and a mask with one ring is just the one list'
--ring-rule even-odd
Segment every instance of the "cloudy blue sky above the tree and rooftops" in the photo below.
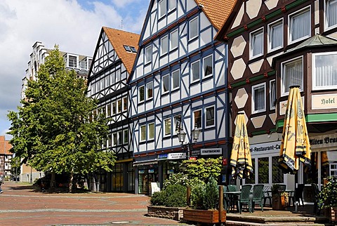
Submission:
{"label": "cloudy blue sky above the tree and rooftops", "polygon": [[0,135],[11,127],[8,111],[18,112],[22,79],[36,41],[46,48],[58,44],[60,51],[93,56],[103,26],[140,34],[149,4],[150,0],[1,0]]}

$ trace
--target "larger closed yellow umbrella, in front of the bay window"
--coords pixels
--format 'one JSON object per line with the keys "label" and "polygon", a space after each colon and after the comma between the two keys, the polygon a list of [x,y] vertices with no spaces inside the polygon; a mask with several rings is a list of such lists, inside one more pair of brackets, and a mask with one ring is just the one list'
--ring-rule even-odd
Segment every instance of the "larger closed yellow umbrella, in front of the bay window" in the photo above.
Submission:
{"label": "larger closed yellow umbrella, in front of the bay window", "polygon": [[297,173],[300,162],[310,168],[310,140],[305,124],[302,100],[298,87],[291,87],[286,104],[279,167],[284,173]]}

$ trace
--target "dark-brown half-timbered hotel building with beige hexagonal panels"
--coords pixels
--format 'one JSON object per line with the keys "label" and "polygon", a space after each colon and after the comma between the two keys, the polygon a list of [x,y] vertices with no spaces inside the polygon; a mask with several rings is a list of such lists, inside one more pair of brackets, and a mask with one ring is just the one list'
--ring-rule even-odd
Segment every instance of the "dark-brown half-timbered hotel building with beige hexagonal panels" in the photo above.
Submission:
{"label": "dark-brown half-timbered hotel building with beige hexagonal panels", "polygon": [[[233,118],[246,115],[255,177],[246,183],[316,182],[336,175],[337,1],[238,0],[216,39],[229,46]],[[277,168],[289,86],[300,86],[312,171]]]}

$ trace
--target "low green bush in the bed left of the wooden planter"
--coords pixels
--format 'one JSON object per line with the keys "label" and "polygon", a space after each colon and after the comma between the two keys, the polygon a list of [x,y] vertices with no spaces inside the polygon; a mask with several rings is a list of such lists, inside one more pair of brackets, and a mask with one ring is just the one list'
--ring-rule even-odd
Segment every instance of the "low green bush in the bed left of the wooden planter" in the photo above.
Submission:
{"label": "low green bush in the bed left of the wooden planter", "polygon": [[185,207],[187,188],[183,185],[169,185],[160,192],[154,192],[150,199],[152,206]]}

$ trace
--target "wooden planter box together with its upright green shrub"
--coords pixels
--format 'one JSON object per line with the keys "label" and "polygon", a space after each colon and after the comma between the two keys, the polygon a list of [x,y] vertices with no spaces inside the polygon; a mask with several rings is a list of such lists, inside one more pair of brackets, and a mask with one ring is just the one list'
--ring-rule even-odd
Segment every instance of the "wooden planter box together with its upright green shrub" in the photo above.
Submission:
{"label": "wooden planter box together with its upright green shrub", "polygon": [[[209,178],[209,182],[200,183],[192,187],[191,192],[191,208],[184,209],[184,220],[202,222],[202,223],[218,223],[225,222],[226,212],[218,210],[219,189],[214,178]],[[221,219],[219,221],[219,214]]]}

